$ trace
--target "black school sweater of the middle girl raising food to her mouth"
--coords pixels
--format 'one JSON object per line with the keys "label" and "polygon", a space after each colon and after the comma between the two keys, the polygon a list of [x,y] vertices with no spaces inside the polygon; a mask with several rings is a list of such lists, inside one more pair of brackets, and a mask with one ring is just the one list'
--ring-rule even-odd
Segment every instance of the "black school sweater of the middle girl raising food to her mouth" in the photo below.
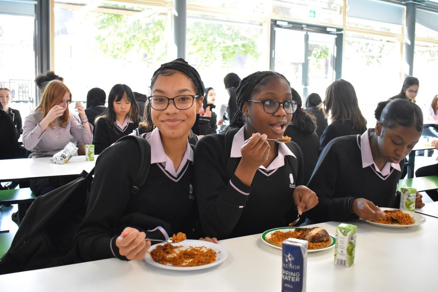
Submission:
{"label": "black school sweater of the middle girl raising food to her mouth", "polygon": [[[231,143],[224,149],[225,133],[202,137],[194,151],[195,192],[201,225],[206,236],[226,239],[288,226],[297,218],[292,194],[303,182],[303,156],[297,144],[293,153],[298,171],[293,172],[288,156],[285,165],[263,173],[258,169],[251,186],[226,173],[226,164],[241,158],[230,158]],[[267,176],[269,174],[269,176]],[[291,183],[290,175],[293,176]],[[208,183],[205,183],[208,182]]]}

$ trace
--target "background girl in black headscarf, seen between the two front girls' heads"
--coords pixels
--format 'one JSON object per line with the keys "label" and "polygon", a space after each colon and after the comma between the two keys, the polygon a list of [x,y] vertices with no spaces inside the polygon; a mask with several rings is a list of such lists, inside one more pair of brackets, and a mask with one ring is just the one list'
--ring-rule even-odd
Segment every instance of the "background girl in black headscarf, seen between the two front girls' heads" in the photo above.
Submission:
{"label": "background girl in black headscarf, seen between the two front girls' heads", "polygon": [[204,101],[200,113],[196,115],[196,122],[192,127],[194,134],[205,136],[208,134],[216,134],[218,128],[216,124],[217,116],[212,109],[215,108],[214,102],[216,99],[215,90],[211,87],[205,89]]}

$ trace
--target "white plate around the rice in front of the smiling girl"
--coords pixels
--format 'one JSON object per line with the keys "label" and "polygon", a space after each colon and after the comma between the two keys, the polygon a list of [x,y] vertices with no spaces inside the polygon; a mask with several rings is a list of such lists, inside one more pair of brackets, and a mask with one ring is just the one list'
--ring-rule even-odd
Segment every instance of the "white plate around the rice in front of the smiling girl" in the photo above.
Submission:
{"label": "white plate around the rice in front of the smiling girl", "polygon": [[173,243],[173,244],[183,246],[183,247],[181,247],[181,249],[187,248],[189,246],[193,246],[193,247],[205,246],[205,247],[211,248],[212,250],[214,250],[216,252],[216,260],[214,262],[212,262],[211,264],[205,264],[202,266],[174,267],[171,265],[157,263],[155,260],[152,259],[151,255],[149,254],[149,252],[154,250],[155,247],[157,247],[159,245],[164,245],[164,244],[165,243],[157,243],[157,244],[154,244],[153,246],[149,247],[148,253],[146,253],[146,256],[145,256],[146,262],[148,262],[149,264],[152,264],[152,266],[161,267],[163,269],[168,269],[168,270],[193,271],[193,270],[201,270],[201,269],[207,269],[209,267],[217,266],[218,264],[222,263],[226,259],[226,257],[228,256],[228,252],[226,251],[226,249],[217,243],[211,243],[211,242],[204,241],[204,240],[186,239],[186,240],[181,241],[180,243]]}

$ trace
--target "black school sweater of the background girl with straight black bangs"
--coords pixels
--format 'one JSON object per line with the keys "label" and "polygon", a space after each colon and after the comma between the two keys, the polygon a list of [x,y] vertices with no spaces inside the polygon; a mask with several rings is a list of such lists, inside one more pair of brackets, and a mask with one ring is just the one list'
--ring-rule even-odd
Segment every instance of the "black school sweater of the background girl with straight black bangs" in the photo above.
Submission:
{"label": "black school sweater of the background girl with straight black bangs", "polygon": [[94,153],[100,154],[111,144],[121,137],[129,135],[138,127],[138,123],[128,123],[126,129],[122,132],[118,127],[113,130],[106,124],[105,118],[100,118],[96,123],[96,130],[93,135]]}

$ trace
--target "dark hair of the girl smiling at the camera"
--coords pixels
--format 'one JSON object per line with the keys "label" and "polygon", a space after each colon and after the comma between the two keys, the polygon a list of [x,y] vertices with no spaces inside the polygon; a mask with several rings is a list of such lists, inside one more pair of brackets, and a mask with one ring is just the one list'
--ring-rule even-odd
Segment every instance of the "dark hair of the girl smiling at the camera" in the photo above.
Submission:
{"label": "dark hair of the girl smiling at the camera", "polygon": [[[178,58],[168,63],[161,64],[161,66],[155,70],[154,74],[151,78],[151,86],[149,88],[152,89],[155,81],[157,80],[159,75],[162,76],[171,76],[175,74],[175,72],[181,72],[186,75],[193,83],[194,89],[196,91],[196,95],[198,97],[197,100],[200,100],[204,96],[204,82],[201,80],[201,76],[199,76],[198,71],[189,65],[183,58]],[[144,118],[143,122],[140,123],[140,126],[145,128],[148,131],[152,131],[154,128],[154,123],[152,122],[151,116],[151,104],[147,102],[147,106],[145,106]]]}

